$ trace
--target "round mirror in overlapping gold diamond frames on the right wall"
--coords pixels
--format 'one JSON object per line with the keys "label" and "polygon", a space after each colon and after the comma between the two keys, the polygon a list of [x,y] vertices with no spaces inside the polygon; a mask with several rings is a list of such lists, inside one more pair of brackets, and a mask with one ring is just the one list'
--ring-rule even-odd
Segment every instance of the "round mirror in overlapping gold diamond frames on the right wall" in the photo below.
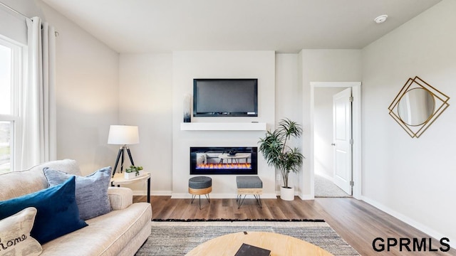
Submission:
{"label": "round mirror in overlapping gold diamond frames on the right wall", "polygon": [[390,116],[410,137],[418,138],[449,106],[450,97],[421,78],[409,78],[391,102]]}

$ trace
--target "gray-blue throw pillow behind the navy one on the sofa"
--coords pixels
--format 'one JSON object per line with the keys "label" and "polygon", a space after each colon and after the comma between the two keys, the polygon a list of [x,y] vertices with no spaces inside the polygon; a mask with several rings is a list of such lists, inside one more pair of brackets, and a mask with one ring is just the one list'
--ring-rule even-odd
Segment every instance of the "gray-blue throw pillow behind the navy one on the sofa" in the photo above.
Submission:
{"label": "gray-blue throw pillow behind the navy one on the sofa", "polygon": [[[56,186],[68,180],[73,174],[43,169],[49,186]],[[88,220],[109,213],[111,206],[108,197],[108,187],[111,180],[111,167],[105,167],[88,176],[76,176],[76,204],[79,208],[79,218]]]}

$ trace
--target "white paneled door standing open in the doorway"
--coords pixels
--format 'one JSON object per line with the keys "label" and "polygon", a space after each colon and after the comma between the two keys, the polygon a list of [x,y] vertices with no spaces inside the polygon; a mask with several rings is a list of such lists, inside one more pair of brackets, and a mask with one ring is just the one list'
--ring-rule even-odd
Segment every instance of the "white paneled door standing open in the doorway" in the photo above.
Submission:
{"label": "white paneled door standing open in the doorway", "polygon": [[333,95],[334,183],[352,194],[351,87]]}

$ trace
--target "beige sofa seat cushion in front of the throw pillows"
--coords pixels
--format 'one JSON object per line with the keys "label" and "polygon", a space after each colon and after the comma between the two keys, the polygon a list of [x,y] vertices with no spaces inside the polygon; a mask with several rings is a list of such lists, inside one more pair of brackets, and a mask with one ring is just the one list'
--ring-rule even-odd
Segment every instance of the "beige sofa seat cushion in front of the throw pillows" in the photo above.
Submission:
{"label": "beige sofa seat cushion in front of the throw pillows", "polygon": [[[135,255],[150,235],[151,218],[150,203],[133,203],[124,210],[91,218],[88,227],[42,245],[41,256]],[[130,245],[133,250],[125,252]]]}

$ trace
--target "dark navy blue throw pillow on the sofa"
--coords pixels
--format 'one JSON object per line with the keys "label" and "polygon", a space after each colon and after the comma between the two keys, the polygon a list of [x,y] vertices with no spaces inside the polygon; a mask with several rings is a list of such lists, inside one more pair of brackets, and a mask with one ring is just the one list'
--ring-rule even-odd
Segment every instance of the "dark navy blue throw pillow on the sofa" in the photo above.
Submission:
{"label": "dark navy blue throw pillow on the sofa", "polygon": [[75,199],[75,178],[18,198],[0,201],[0,220],[27,207],[36,208],[30,235],[41,244],[87,226],[79,218]]}

